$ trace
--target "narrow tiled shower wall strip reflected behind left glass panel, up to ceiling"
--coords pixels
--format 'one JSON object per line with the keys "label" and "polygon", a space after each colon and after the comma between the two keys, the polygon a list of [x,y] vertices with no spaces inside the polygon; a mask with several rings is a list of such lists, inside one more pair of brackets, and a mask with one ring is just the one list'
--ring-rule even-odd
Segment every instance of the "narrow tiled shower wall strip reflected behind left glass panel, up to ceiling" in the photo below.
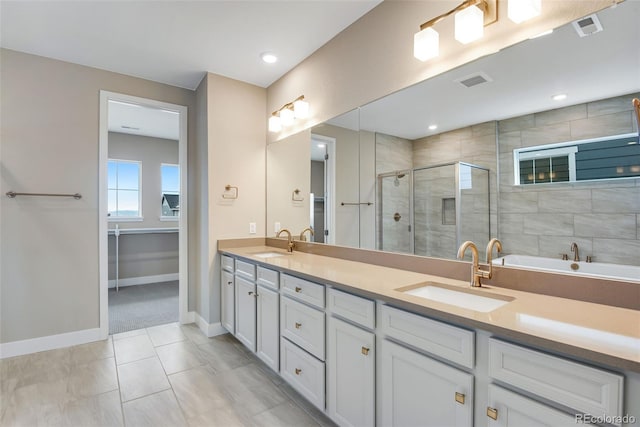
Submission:
{"label": "narrow tiled shower wall strip reflected behind left glass panel, up to ceiling", "polygon": [[[411,169],[413,167],[413,149],[411,141],[396,136],[375,134],[376,139],[376,176]],[[405,174],[394,185],[394,178],[383,180],[379,204],[376,209],[377,247],[390,252],[411,252],[410,211],[409,211],[409,179]],[[394,215],[398,213],[400,220]],[[382,215],[382,216],[381,216]]]}

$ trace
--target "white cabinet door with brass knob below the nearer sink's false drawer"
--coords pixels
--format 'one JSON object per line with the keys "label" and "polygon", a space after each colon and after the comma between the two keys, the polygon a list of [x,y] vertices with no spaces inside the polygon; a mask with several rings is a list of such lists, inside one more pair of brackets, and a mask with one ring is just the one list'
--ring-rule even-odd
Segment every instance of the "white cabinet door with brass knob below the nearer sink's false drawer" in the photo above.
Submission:
{"label": "white cabinet door with brass knob below the nearer sink's false drawer", "polygon": [[473,375],[391,341],[379,349],[379,426],[473,424]]}

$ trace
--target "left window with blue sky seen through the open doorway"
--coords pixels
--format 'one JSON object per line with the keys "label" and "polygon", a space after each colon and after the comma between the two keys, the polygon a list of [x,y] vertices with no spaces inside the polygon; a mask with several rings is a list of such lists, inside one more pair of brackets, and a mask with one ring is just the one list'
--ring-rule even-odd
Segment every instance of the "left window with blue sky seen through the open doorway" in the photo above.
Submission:
{"label": "left window with blue sky seen through the open doorway", "polygon": [[141,177],[141,162],[109,159],[107,193],[110,219],[142,218]]}

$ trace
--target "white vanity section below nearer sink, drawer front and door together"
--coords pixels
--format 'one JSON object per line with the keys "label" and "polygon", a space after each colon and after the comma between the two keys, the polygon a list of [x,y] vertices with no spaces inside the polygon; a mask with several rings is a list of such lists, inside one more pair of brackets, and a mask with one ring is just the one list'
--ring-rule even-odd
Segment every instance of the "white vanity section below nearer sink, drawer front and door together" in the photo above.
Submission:
{"label": "white vanity section below nearer sink, drawer front and door together", "polygon": [[378,425],[472,426],[473,374],[435,358],[473,368],[474,332],[386,305],[378,320]]}

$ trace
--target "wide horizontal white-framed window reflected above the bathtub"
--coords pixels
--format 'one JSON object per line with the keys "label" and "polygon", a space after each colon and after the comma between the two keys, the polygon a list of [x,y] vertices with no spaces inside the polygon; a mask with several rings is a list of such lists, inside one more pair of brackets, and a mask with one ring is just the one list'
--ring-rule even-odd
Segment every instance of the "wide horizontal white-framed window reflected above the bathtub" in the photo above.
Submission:
{"label": "wide horizontal white-framed window reflected above the bathtub", "polygon": [[513,150],[516,185],[640,176],[637,134]]}

